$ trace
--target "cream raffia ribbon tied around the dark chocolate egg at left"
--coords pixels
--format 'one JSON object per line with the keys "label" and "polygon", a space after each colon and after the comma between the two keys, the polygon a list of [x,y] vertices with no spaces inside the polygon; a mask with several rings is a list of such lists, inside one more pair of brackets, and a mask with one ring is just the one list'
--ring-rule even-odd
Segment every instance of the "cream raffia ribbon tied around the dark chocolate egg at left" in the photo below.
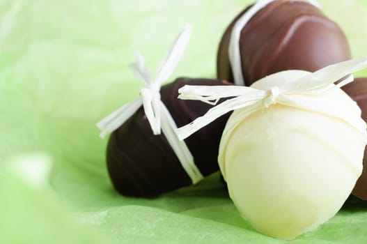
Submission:
{"label": "cream raffia ribbon tied around the dark chocolate egg at left", "polygon": [[154,135],[164,133],[167,141],[169,142],[171,148],[175,152],[178,160],[182,167],[185,169],[189,177],[192,179],[192,183],[198,183],[203,178],[198,167],[194,163],[194,157],[192,153],[187,148],[185,142],[178,139],[175,134],[177,125],[169,110],[166,108],[161,100],[159,90],[162,83],[169,78],[173,73],[175,66],[177,66],[178,61],[180,61],[182,54],[185,51],[187,43],[189,43],[190,34],[192,32],[191,26],[186,26],[185,29],[180,33],[178,38],[175,40],[168,53],[163,59],[163,62],[155,77],[150,75],[150,71],[146,66],[146,63],[139,54],[136,52],[136,61],[132,63],[130,68],[132,72],[140,81],[143,83],[144,87],[140,90],[140,97],[133,102],[130,102],[123,107],[120,107],[109,116],[102,119],[102,121],[97,123],[97,127],[100,128],[100,137],[105,137],[107,134],[113,132],[120,125],[123,125],[127,119],[130,119],[132,114],[143,105],[146,118],[153,130]]}

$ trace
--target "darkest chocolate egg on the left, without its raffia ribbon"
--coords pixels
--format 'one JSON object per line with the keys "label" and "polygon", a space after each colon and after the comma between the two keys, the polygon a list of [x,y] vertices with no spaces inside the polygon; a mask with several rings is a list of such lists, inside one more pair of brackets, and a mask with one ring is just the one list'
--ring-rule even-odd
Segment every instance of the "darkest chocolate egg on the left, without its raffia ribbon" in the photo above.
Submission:
{"label": "darkest chocolate egg on the left, without its raffia ribbon", "polygon": [[[161,89],[161,99],[176,125],[181,127],[212,107],[201,101],[179,100],[178,89],[185,84],[224,85],[219,79],[179,78]],[[217,155],[221,133],[229,113],[185,139],[203,176],[219,170]],[[107,169],[114,188],[122,195],[157,197],[192,185],[164,135],[153,135],[141,107],[111,134],[107,146]]]}

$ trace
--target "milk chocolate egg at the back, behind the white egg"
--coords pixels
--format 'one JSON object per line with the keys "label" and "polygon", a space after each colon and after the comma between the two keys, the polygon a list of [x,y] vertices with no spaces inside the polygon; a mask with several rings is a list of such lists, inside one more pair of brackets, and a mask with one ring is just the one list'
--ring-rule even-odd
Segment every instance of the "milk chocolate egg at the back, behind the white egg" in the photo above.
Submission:
{"label": "milk chocolate egg at the back, behind the white egg", "polygon": [[[247,8],[248,9],[248,8]],[[217,76],[233,81],[228,43],[233,25],[219,44]],[[274,1],[254,15],[240,36],[245,85],[283,70],[314,72],[350,59],[348,40],[339,26],[315,6],[300,1]]]}

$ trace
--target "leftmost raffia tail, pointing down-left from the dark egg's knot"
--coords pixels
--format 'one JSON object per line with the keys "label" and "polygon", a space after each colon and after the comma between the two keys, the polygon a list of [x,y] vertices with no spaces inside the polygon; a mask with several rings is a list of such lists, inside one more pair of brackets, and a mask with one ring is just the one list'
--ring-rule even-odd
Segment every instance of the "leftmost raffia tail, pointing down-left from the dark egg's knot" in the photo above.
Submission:
{"label": "leftmost raffia tail, pointing down-left from the dark egg's knot", "polygon": [[120,107],[115,112],[109,114],[100,122],[98,122],[97,128],[101,130],[100,137],[104,138],[107,134],[114,132],[117,128],[120,127],[127,119],[130,119],[132,114],[136,112],[136,110],[141,107],[143,102],[141,99],[134,100],[133,102],[129,102],[123,107]]}

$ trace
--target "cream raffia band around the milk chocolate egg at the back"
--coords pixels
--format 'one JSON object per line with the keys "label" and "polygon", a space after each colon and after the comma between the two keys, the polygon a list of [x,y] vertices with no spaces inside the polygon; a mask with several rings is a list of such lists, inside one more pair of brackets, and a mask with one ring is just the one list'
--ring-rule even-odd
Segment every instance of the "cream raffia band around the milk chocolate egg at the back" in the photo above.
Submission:
{"label": "cream raffia band around the milk chocolate egg at the back", "polygon": [[[228,45],[228,56],[231,63],[233,78],[236,85],[244,86],[244,77],[242,74],[242,63],[241,63],[241,53],[240,53],[240,37],[241,31],[244,26],[251,20],[251,18],[258,13],[258,11],[265,8],[268,4],[273,1],[284,1],[284,0],[259,0],[249,10],[246,11],[233,26],[231,37]],[[287,0],[290,1],[290,0]],[[294,1],[305,1],[312,4],[313,6],[320,8],[320,4],[315,0],[294,0]]]}

